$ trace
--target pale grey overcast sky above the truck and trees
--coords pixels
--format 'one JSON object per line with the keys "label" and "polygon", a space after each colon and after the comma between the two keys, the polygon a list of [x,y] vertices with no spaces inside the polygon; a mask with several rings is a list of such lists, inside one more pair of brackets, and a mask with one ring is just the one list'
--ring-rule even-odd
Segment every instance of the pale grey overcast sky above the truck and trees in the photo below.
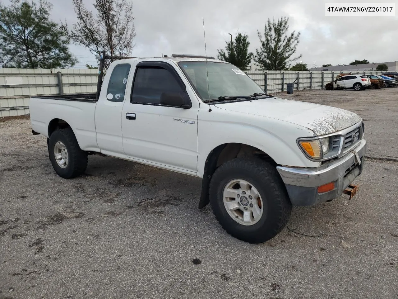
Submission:
{"label": "pale grey overcast sky above the truck and trees", "polygon": [[[29,0],[30,2],[31,0]],[[84,0],[92,7],[94,0]],[[3,0],[3,3],[8,0]],[[203,23],[205,18],[207,55],[238,31],[249,36],[250,51],[259,47],[257,30],[263,32],[267,18],[289,17],[289,31],[300,31],[297,54],[303,63],[317,67],[331,63],[348,64],[354,59],[369,62],[398,60],[398,16],[343,17],[325,16],[325,3],[396,3],[396,0],[133,0],[137,37],[134,57],[171,54],[205,54]],[[54,21],[76,21],[72,0],[51,0]],[[71,45],[80,63],[95,64],[92,54]]]}

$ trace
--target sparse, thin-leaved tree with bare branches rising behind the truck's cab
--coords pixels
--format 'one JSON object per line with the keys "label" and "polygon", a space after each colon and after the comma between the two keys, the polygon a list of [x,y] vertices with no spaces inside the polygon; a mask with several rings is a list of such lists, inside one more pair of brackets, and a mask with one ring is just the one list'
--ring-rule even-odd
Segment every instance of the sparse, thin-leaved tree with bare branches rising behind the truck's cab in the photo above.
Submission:
{"label": "sparse, thin-leaved tree with bare branches rising behind the truck's cab", "polygon": [[[99,57],[105,50],[110,55],[128,56],[135,46],[133,2],[131,0],[94,0],[93,12],[84,7],[83,0],[72,0],[77,23],[68,36]],[[68,28],[66,22],[63,28]]]}

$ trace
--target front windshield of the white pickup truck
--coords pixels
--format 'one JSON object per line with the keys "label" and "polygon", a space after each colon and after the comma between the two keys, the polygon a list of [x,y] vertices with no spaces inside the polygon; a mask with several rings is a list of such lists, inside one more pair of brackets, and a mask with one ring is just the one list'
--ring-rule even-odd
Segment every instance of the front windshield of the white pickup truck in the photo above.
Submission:
{"label": "front windshield of the white pickup truck", "polygon": [[[178,65],[202,100],[264,92],[248,75],[230,63],[207,62],[207,69],[206,61],[181,61]],[[209,88],[207,74],[209,74]]]}

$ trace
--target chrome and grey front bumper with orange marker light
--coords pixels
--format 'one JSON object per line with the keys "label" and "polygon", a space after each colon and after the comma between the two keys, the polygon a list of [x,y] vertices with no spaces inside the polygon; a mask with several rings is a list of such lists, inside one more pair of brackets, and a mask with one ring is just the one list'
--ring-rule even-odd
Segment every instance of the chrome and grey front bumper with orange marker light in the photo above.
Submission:
{"label": "chrome and grey front bumper with orange marker light", "polygon": [[[361,160],[358,163],[355,154],[345,156],[316,168],[298,168],[277,166],[277,170],[285,183],[291,203],[296,206],[309,206],[339,197],[345,188],[362,173],[365,160],[366,140],[352,149]],[[334,182],[334,189],[318,193],[318,187]]]}

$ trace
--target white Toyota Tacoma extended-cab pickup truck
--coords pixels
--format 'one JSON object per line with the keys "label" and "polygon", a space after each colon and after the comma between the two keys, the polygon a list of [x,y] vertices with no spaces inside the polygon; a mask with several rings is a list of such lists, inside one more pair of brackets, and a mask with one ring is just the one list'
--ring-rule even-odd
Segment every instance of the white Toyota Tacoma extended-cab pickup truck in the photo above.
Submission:
{"label": "white Toyota Tacoma extended-cab pickup truck", "polygon": [[265,94],[213,57],[120,59],[99,77],[97,96],[30,99],[33,134],[48,138],[65,179],[84,173],[91,154],[200,177],[199,209],[210,203],[250,243],[277,235],[293,205],[357,190],[366,141],[353,112]]}

